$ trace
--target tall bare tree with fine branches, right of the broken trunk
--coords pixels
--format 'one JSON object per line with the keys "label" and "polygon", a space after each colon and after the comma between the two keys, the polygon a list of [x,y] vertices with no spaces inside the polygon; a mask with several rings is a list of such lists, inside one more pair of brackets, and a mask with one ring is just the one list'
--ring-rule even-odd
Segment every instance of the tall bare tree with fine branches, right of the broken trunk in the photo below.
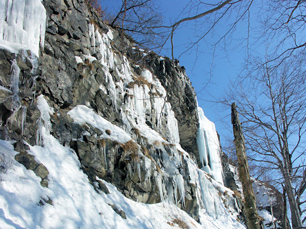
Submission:
{"label": "tall bare tree with fine branches, right of the broken trunk", "polygon": [[[230,98],[238,101],[250,158],[258,168],[275,172],[285,184],[293,227],[301,227],[306,155],[306,75],[303,60],[293,56],[275,68],[257,70],[236,81]],[[278,172],[278,174],[276,174]],[[302,199],[301,199],[302,198]]]}

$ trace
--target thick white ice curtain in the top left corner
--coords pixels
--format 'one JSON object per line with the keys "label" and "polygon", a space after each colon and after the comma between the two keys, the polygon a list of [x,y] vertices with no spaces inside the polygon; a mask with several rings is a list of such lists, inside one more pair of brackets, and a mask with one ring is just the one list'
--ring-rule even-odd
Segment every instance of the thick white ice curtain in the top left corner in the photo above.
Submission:
{"label": "thick white ice curtain in the top left corner", "polygon": [[39,55],[44,46],[46,11],[40,0],[0,1],[0,48]]}

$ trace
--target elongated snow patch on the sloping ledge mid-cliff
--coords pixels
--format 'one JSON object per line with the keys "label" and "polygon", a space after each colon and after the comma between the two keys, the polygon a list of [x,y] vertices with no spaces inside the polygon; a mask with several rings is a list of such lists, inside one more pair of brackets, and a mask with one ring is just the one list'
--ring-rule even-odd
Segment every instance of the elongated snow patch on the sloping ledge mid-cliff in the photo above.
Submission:
{"label": "elongated snow patch on the sloping ledge mid-cliff", "polygon": [[[131,136],[121,128],[110,123],[106,119],[98,116],[92,109],[85,105],[77,105],[68,112],[68,115],[74,120],[74,123],[83,125],[87,123],[92,127],[99,129],[102,132],[100,138],[109,138],[113,141],[125,143],[131,140]],[[108,135],[105,131],[110,130],[111,134]]]}

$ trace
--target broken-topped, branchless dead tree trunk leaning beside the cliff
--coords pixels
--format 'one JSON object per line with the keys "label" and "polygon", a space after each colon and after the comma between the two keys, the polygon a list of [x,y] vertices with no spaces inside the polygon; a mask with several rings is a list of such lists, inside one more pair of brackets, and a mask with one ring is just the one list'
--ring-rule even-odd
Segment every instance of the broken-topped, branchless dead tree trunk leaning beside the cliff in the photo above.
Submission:
{"label": "broken-topped, branchless dead tree trunk leaning beside the cliff", "polygon": [[245,153],[244,136],[241,129],[236,103],[232,104],[232,124],[234,130],[234,142],[238,157],[239,177],[242,183],[244,206],[246,212],[247,227],[249,229],[262,228],[256,209],[255,195],[252,188],[252,181],[249,175],[248,163]]}

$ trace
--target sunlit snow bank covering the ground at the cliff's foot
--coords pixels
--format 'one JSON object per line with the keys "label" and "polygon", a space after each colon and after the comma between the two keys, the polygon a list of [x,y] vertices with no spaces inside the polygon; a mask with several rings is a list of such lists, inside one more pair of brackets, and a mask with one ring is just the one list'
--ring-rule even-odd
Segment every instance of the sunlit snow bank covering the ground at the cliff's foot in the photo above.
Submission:
{"label": "sunlit snow bank covering the ground at the cliff's foot", "polygon": [[[105,181],[110,194],[97,193],[80,169],[75,152],[62,146],[42,128],[43,147],[30,146],[29,153],[49,171],[49,185],[14,160],[11,142],[0,140],[2,153],[11,163],[0,173],[0,223],[4,228],[244,228],[231,216],[216,221],[202,212],[202,224],[170,202],[142,204],[124,197]],[[50,201],[52,204],[50,204]],[[49,204],[48,204],[48,203]],[[113,208],[122,210],[121,218]]]}

